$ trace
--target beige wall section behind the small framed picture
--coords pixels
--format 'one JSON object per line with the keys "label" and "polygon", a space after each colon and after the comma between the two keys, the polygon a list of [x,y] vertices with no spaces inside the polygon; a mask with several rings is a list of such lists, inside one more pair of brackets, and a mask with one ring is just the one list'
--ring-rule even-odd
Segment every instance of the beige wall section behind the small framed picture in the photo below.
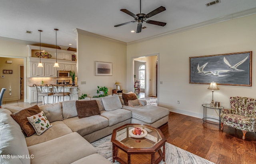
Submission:
{"label": "beige wall section behind the small framed picture", "polygon": [[[126,44],[79,33],[77,43],[77,81],[81,94],[93,97],[97,95],[97,86],[106,86],[112,94],[116,80],[126,92]],[[113,76],[95,76],[95,61],[113,62]],[[81,84],[82,81],[86,84]]]}

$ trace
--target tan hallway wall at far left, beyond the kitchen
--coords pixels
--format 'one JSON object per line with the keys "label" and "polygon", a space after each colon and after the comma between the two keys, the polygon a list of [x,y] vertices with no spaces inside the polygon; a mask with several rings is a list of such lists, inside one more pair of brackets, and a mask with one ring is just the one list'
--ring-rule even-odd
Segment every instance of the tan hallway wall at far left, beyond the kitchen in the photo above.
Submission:
{"label": "tan hallway wall at far left, beyond the kitchen", "polygon": [[[6,61],[12,61],[8,64]],[[4,58],[0,57],[0,89],[6,88],[3,101],[19,100],[20,99],[20,65],[23,65],[23,59]],[[12,70],[12,74],[3,74],[3,70]],[[12,95],[9,95],[9,92]]]}

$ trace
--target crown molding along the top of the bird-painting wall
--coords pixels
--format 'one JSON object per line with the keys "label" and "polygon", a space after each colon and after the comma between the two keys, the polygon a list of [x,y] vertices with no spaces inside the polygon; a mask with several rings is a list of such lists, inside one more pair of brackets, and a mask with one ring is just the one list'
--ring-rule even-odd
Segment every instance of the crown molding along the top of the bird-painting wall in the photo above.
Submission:
{"label": "crown molding along the top of the bird-painting wall", "polygon": [[220,22],[224,22],[224,21],[229,21],[229,20],[233,20],[233,19],[236,19],[236,18],[241,18],[241,17],[244,17],[244,16],[250,16],[250,15],[253,15],[253,14],[256,14],[256,8],[252,8],[252,9],[245,10],[245,11],[242,11],[242,12],[237,12],[237,13],[234,13],[234,14],[229,14],[227,16],[223,16],[223,17],[220,17],[220,18],[215,18],[215,19],[208,20],[208,21],[203,21],[201,23],[196,23],[194,25],[189,25],[189,26],[186,26],[186,27],[182,27],[182,28],[179,28],[179,29],[175,29],[175,30],[168,31],[166,33],[161,33],[161,34],[158,34],[158,35],[154,35],[154,36],[151,36],[151,37],[146,37],[146,38],[139,39],[139,40],[136,40],[136,41],[131,41],[131,42],[128,42],[127,45],[132,45],[132,44],[140,43],[142,41],[157,39],[157,38],[165,37],[165,36],[168,36],[168,35],[174,35],[176,33],[181,33],[181,32],[184,32],[184,31],[191,30],[191,29],[196,29],[196,28],[200,28],[200,27],[204,27],[204,26],[208,26],[208,25],[212,25],[212,24],[216,24],[216,23],[220,23]]}

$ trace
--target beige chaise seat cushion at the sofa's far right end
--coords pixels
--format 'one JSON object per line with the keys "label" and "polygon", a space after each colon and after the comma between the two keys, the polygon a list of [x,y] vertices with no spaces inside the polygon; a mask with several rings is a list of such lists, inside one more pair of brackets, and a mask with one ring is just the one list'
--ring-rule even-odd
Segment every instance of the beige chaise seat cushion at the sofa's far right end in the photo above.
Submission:
{"label": "beige chaise seat cushion at the sofa's far right end", "polygon": [[154,105],[134,107],[124,105],[123,108],[132,111],[132,118],[149,124],[154,123],[170,113],[168,109]]}

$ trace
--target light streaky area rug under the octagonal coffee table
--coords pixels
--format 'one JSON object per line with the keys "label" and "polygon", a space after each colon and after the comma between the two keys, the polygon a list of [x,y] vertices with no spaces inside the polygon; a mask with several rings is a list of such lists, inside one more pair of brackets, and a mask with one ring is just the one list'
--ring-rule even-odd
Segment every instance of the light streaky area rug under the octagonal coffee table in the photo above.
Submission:
{"label": "light streaky area rug under the octagonal coffee table", "polygon": [[[111,135],[91,144],[98,149],[98,154],[112,162],[112,143],[110,139]],[[165,162],[161,161],[160,164],[214,164],[213,162],[178,148],[170,143],[165,144],[165,154]],[[114,164],[120,163],[114,162]]]}

